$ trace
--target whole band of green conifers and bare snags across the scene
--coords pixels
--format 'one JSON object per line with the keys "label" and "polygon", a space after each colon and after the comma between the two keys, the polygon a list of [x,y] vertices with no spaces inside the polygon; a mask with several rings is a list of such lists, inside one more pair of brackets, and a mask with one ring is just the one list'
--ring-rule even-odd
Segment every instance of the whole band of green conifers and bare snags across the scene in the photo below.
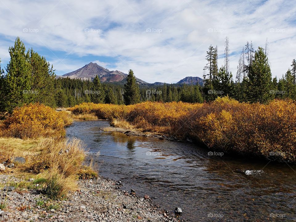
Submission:
{"label": "whole band of green conifers and bare snags across the scene", "polygon": [[268,60],[268,41],[255,51],[253,43],[242,48],[236,80],[229,70],[229,39],[225,38],[224,64],[218,68],[218,47],[206,52],[204,82],[199,84],[139,85],[133,70],[125,84],[101,83],[93,80],[56,78],[53,66],[33,49],[15,40],[9,48],[10,61],[5,71],[0,67],[0,111],[39,102],[51,107],[70,107],[82,102],[135,104],[142,101],[183,101],[202,103],[218,96],[232,97],[240,102],[267,103],[275,98],[296,99],[296,61],[279,80],[272,79]]}

